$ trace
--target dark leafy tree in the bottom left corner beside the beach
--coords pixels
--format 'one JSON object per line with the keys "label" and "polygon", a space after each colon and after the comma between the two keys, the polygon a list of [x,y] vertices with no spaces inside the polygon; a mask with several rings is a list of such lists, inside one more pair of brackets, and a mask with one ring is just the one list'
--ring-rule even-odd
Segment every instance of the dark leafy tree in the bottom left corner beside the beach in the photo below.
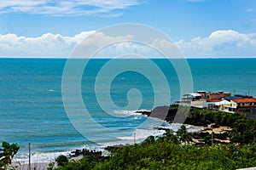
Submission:
{"label": "dark leafy tree in the bottom left corner beside the beach", "polygon": [[18,144],[9,144],[3,141],[2,148],[0,148],[0,167],[8,169],[19,149],[20,146]]}

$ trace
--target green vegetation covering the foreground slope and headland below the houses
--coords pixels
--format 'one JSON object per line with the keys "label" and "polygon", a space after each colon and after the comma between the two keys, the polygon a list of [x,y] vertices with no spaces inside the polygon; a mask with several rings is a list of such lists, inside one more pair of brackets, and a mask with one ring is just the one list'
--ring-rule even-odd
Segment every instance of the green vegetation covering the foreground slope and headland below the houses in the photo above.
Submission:
{"label": "green vegetation covering the foreground slope and headland below the houses", "polygon": [[[177,106],[170,106],[177,110]],[[166,131],[163,137],[148,137],[142,144],[113,150],[110,158],[99,161],[84,156],[57,169],[237,169],[256,167],[256,120],[220,111],[192,108],[189,117],[230,126],[233,144],[196,146],[189,144],[191,135],[182,126],[177,135]],[[236,144],[241,144],[237,146]]]}

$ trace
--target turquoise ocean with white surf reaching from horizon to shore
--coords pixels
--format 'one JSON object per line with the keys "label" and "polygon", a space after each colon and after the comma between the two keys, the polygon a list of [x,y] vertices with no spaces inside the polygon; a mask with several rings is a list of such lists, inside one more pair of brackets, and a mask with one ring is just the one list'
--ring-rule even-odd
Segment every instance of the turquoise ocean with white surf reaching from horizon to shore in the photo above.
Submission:
{"label": "turquoise ocean with white surf reaching from horizon to shore", "polygon": [[[184,74],[166,59],[150,59],[160,72],[145,60],[119,59],[117,68],[99,72],[110,59],[90,59],[78,79],[73,78],[77,77],[74,66],[71,81],[66,82],[69,100],[65,105],[62,76],[67,59],[0,59],[0,141],[18,143],[14,161],[21,162],[27,161],[29,143],[33,162],[49,162],[84,147],[101,150],[141,142],[163,133],[155,126],[170,125],[136,111],[179,100],[183,79],[192,78],[191,86],[185,84],[191,92],[221,90],[256,96],[256,59],[187,59],[191,72]],[[134,67],[122,71],[127,65],[138,65],[143,72]],[[78,84],[80,94],[73,89]],[[81,116],[84,110],[89,113],[86,119]]]}

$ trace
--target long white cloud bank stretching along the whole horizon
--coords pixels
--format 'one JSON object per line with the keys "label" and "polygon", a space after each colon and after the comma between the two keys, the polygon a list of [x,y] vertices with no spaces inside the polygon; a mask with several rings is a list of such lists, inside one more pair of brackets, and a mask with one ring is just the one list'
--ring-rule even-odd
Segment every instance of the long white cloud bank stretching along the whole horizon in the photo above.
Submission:
{"label": "long white cloud bank stretching along the whole horizon", "polygon": [[[84,31],[73,37],[61,34],[46,33],[41,37],[18,37],[15,34],[0,35],[1,57],[40,57],[66,58],[79,42],[96,31]],[[89,46],[100,46],[102,42],[108,43],[122,40],[131,40],[133,36],[108,37],[97,32],[90,37]],[[99,41],[101,40],[101,41]],[[165,48],[166,42],[154,40],[154,47]],[[195,37],[188,42],[180,40],[175,42],[185,57],[256,57],[256,33],[244,34],[237,31],[213,31],[209,37]],[[109,46],[100,57],[109,57],[113,54],[134,53],[144,54],[148,57],[159,57],[152,49],[142,44],[120,42]]]}

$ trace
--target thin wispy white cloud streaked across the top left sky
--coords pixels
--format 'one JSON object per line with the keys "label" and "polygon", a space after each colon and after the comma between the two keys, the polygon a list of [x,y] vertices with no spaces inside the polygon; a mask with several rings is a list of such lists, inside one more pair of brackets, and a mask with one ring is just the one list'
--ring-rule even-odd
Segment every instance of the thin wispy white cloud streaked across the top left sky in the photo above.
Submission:
{"label": "thin wispy white cloud streaked across the top left sky", "polygon": [[116,16],[120,13],[114,10],[139,4],[139,0],[2,0],[0,13]]}

